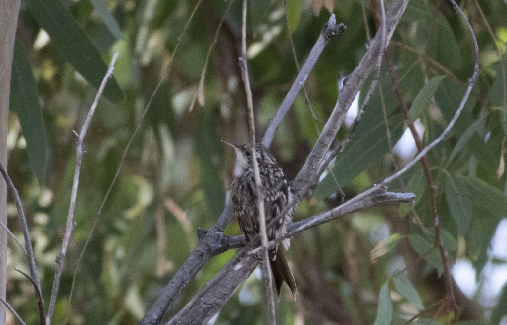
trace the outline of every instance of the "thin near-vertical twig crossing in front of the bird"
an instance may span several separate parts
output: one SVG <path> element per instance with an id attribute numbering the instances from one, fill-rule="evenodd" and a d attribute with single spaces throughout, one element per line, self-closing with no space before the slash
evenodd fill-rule
<path id="1" fill-rule="evenodd" d="M 262 245 L 262 273 L 266 288 L 266 303 L 268 305 L 268 320 L 271 325 L 276 325 L 275 318 L 275 299 L 273 297 L 273 279 L 269 269 L 270 260 L 268 252 L 268 234 L 266 232 L 266 215 L 264 210 L 264 194 L 261 182 L 261 174 L 259 172 L 259 164 L 256 154 L 256 137 L 255 137 L 255 116 L 253 114 L 252 93 L 250 89 L 250 80 L 248 78 L 248 67 L 246 62 L 246 7 L 247 0 L 243 0 L 242 19 L 241 19 L 241 77 L 246 93 L 246 107 L 248 109 L 248 125 L 251 143 L 251 161 L 253 166 L 253 176 L 255 177 L 257 190 L 257 210 L 259 211 L 259 231 L 261 234 Z"/>

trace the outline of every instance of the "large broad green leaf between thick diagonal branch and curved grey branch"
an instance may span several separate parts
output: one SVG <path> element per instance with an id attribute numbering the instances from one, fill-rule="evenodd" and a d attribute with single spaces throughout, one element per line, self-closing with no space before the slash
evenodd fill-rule
<path id="1" fill-rule="evenodd" d="M 341 156 L 338 156 L 333 172 L 341 186 L 348 185 L 355 176 L 389 152 L 386 126 L 382 118 L 382 110 L 370 107 L 363 116 L 361 123 L 354 131 L 350 143 Z M 403 133 L 403 119 L 400 113 L 388 118 L 392 144 Z M 326 176 L 315 189 L 316 198 L 328 197 L 336 192 L 336 184 L 331 175 Z"/>

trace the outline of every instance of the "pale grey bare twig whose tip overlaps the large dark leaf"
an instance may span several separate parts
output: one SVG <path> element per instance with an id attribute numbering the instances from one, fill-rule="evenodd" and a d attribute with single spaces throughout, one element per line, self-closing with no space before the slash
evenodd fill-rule
<path id="1" fill-rule="evenodd" d="M 119 54 L 115 53 L 113 55 L 113 58 L 111 59 L 111 63 L 109 65 L 109 68 L 107 69 L 107 72 L 102 79 L 102 83 L 100 83 L 100 87 L 97 90 L 97 95 L 95 96 L 95 99 L 93 100 L 93 103 L 90 107 L 90 110 L 88 111 L 88 114 L 86 115 L 85 121 L 83 123 L 83 126 L 81 127 L 81 131 L 78 135 L 78 140 L 76 144 L 76 170 L 74 171 L 74 180 L 72 183 L 72 191 L 70 194 L 70 204 L 68 207 L 68 213 L 67 213 L 67 222 L 65 224 L 65 233 L 63 235 L 63 242 L 60 254 L 58 254 L 56 258 L 56 266 L 55 266 L 55 279 L 53 282 L 53 289 L 51 291 L 51 298 L 49 301 L 48 306 L 48 312 L 46 315 L 46 323 L 49 325 L 51 323 L 51 318 L 53 317 L 53 312 L 55 310 L 56 306 L 56 298 L 58 297 L 58 290 L 60 288 L 60 281 L 61 276 L 63 272 L 63 266 L 65 263 L 65 256 L 67 254 L 67 248 L 70 241 L 70 235 L 72 234 L 72 230 L 74 229 L 74 209 L 76 207 L 76 197 L 78 194 L 78 185 L 79 185 L 79 176 L 81 173 L 81 162 L 83 160 L 83 155 L 85 151 L 83 150 L 83 141 L 86 136 L 86 132 L 88 131 L 88 127 L 90 126 L 91 119 L 93 116 L 93 113 L 95 112 L 95 108 L 97 107 L 98 100 L 100 99 L 100 96 L 102 95 L 102 92 L 104 91 L 105 85 L 107 84 L 107 81 L 113 76 L 113 71 L 115 69 L 115 62 L 118 59 Z"/>

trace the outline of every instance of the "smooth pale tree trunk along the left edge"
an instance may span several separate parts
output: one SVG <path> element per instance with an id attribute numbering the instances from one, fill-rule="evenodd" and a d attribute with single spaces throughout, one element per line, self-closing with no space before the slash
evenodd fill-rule
<path id="1" fill-rule="evenodd" d="M 11 93 L 14 38 L 20 0 L 0 1 L 0 162 L 7 169 L 7 117 Z M 7 185 L 0 179 L 0 220 L 7 225 Z M 7 232 L 0 227 L 0 297 L 7 291 Z M 0 303 L 0 325 L 5 324 L 6 307 Z"/>

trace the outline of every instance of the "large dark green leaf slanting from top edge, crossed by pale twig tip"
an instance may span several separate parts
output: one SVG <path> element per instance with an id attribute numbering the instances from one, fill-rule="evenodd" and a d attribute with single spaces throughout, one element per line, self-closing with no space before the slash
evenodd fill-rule
<path id="1" fill-rule="evenodd" d="M 98 89 L 107 65 L 68 10 L 59 0 L 28 0 L 28 5 L 33 18 L 49 34 L 58 51 Z M 123 94 L 115 78 L 105 86 L 104 96 L 115 103 L 122 101 Z"/>

